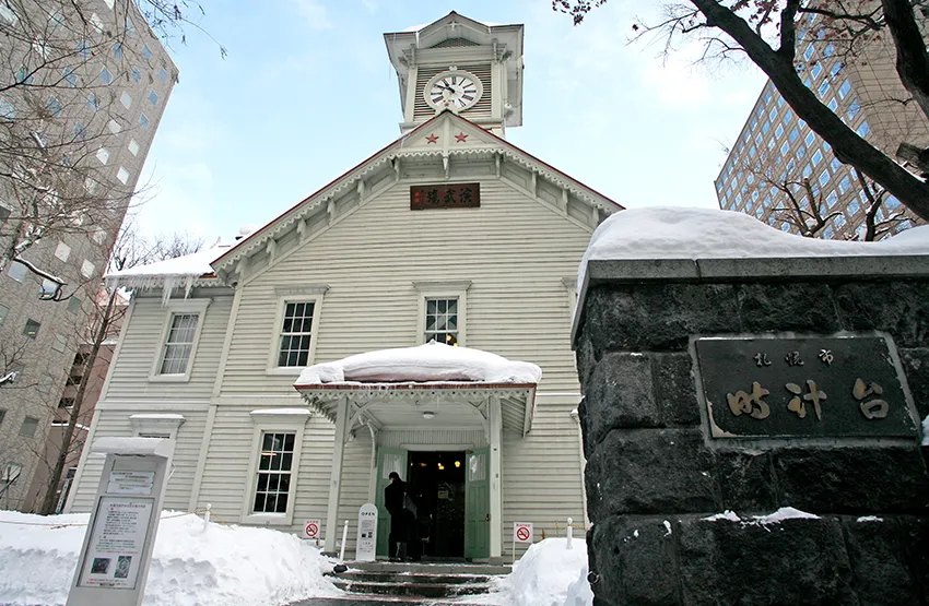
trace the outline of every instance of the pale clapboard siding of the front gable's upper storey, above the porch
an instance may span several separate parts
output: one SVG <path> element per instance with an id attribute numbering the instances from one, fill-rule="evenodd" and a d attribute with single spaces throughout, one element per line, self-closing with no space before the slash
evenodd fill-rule
<path id="1" fill-rule="evenodd" d="M 590 233 L 498 179 L 481 187 L 480 209 L 413 212 L 409 187 L 393 186 L 251 278 L 224 393 L 291 389 L 293 377 L 266 375 L 275 288 L 329 286 L 313 360 L 328 361 L 418 344 L 413 282 L 465 280 L 466 345 L 538 364 L 540 389 L 577 391 L 562 280 L 576 274 Z"/>

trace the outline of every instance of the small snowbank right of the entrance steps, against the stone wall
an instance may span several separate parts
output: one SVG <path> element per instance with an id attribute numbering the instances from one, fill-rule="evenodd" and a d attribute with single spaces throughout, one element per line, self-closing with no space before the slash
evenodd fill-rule
<path id="1" fill-rule="evenodd" d="M 498 585 L 507 606 L 590 606 L 593 592 L 587 582 L 587 544 L 546 538 L 529 547 Z"/>

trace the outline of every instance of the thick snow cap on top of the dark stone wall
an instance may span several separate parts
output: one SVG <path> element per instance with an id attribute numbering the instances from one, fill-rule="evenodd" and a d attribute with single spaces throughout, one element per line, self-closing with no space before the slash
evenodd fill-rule
<path id="1" fill-rule="evenodd" d="M 929 226 L 878 242 L 822 240 L 787 234 L 744 213 L 716 209 L 627 209 L 590 238 L 578 285 L 590 260 L 861 257 L 929 254 Z"/>

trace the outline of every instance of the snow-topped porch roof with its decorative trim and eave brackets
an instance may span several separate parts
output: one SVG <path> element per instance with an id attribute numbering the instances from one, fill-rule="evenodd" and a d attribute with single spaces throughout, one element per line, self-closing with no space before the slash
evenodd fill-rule
<path id="1" fill-rule="evenodd" d="M 542 370 L 534 364 L 432 342 L 309 366 L 294 388 L 330 420 L 342 395 L 363 405 L 405 397 L 483 399 L 495 392 L 504 404 L 504 429 L 525 435 L 541 378 Z"/>

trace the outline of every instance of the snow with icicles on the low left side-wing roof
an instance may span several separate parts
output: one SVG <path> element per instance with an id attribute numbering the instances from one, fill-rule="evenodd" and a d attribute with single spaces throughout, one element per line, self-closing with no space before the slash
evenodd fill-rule
<path id="1" fill-rule="evenodd" d="M 104 277 L 108 288 L 164 286 L 165 300 L 170 297 L 172 290 L 184 285 L 184 296 L 187 297 L 193 287 L 193 282 L 198 277 L 213 273 L 210 263 L 219 259 L 230 248 L 232 248 L 231 245 L 216 245 L 192 254 L 108 273 Z"/>

